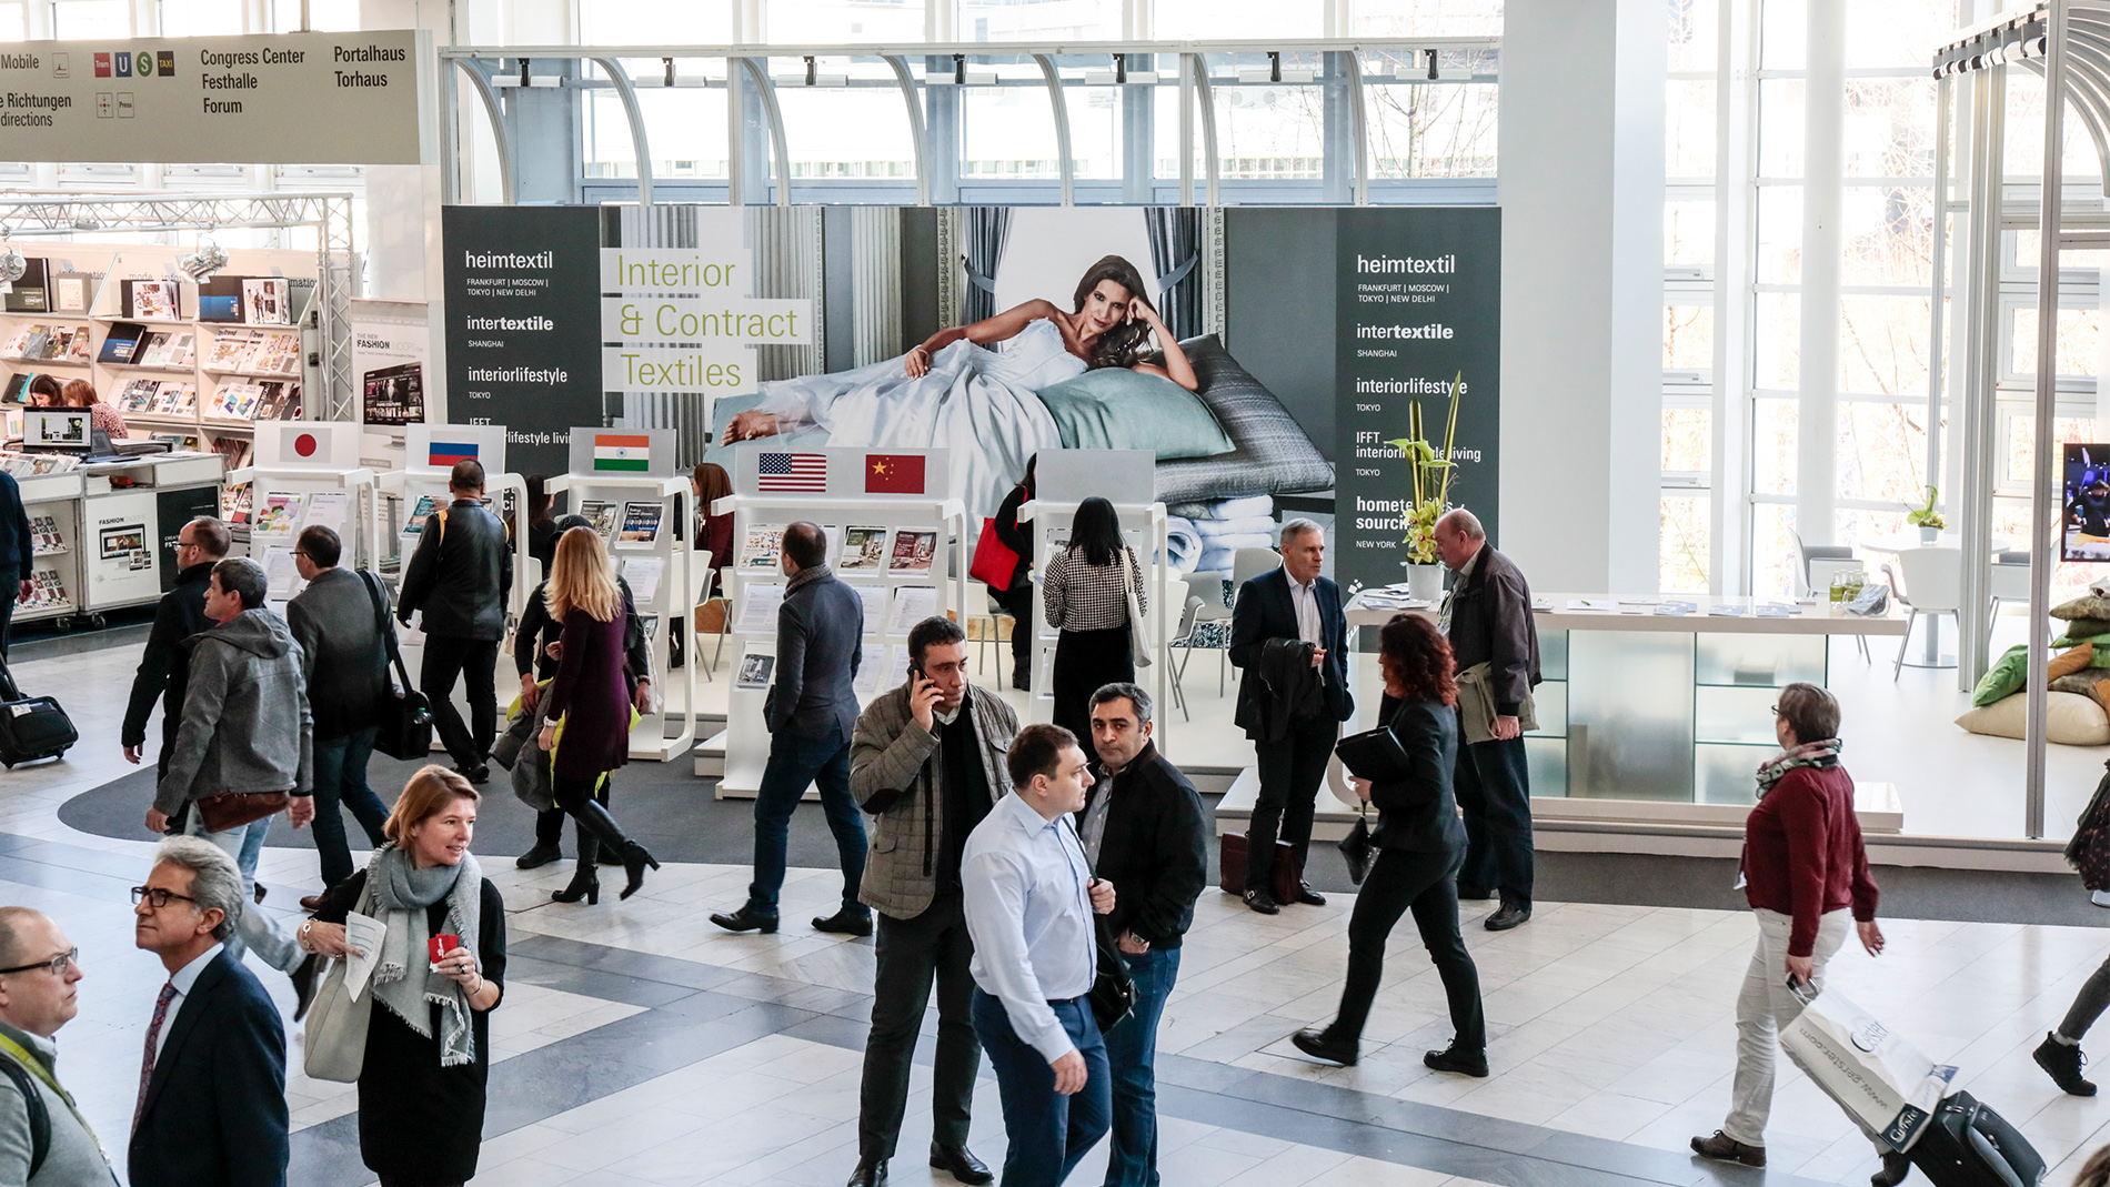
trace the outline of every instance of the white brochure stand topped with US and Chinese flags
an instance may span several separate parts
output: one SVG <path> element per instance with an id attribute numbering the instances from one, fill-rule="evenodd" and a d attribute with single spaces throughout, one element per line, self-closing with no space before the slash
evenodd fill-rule
<path id="1" fill-rule="evenodd" d="M 781 460 L 772 468 L 791 472 L 762 474 L 764 460 Z M 922 466 L 922 479 L 909 481 L 916 466 Z M 732 495 L 711 506 L 713 514 L 732 512 L 734 548 L 728 590 L 728 614 L 734 616 L 732 687 L 726 694 L 726 732 L 715 740 L 726 757 L 717 780 L 720 799 L 751 799 L 760 793 L 770 759 L 762 704 L 774 681 L 785 525 L 804 519 L 825 527 L 827 563 L 865 599 L 865 641 L 857 673 L 857 698 L 865 704 L 907 679 L 907 641 L 916 622 L 935 614 L 952 614 L 954 620 L 962 616 L 966 508 L 947 498 L 947 476 L 945 449 L 738 455 Z M 874 487 L 912 487 L 918 493 L 867 493 Z M 774 540 L 768 536 L 772 531 Z M 844 552 L 850 552 L 848 561 Z M 806 795 L 817 797 L 810 789 Z"/>

